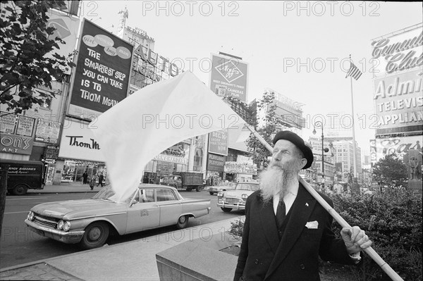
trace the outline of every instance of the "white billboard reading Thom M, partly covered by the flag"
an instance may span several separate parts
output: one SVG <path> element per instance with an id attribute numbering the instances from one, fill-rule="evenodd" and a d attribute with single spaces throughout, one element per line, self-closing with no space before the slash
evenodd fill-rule
<path id="1" fill-rule="evenodd" d="M 59 158 L 104 162 L 102 144 L 87 124 L 75 120 L 64 123 Z"/>

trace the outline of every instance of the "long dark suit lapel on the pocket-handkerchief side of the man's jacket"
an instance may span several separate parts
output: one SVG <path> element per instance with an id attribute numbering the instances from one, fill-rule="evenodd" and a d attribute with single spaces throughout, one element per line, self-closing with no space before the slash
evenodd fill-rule
<path id="1" fill-rule="evenodd" d="M 271 273 L 278 268 L 279 264 L 281 264 L 288 255 L 290 249 L 293 248 L 302 230 L 304 230 L 305 224 L 312 214 L 315 204 L 316 199 L 314 199 L 305 190 L 305 187 L 300 184 L 297 198 L 290 209 L 291 213 L 288 224 L 286 225 L 285 232 L 283 233 L 281 243 L 278 245 L 278 250 L 276 251 L 274 259 L 269 266 L 269 270 L 267 270 L 266 277 L 271 275 Z"/>

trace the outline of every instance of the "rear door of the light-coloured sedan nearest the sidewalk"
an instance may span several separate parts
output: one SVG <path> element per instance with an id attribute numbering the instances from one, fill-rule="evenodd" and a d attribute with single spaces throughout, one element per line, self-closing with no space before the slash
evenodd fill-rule
<path id="1" fill-rule="evenodd" d="M 160 226 L 175 225 L 182 212 L 176 194 L 170 188 L 156 189 L 157 204 L 160 208 Z"/>

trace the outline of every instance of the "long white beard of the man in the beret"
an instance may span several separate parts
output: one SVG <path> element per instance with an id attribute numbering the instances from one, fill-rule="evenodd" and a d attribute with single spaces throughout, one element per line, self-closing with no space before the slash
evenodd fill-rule
<path id="1" fill-rule="evenodd" d="M 286 192 L 286 173 L 280 166 L 269 166 L 260 175 L 260 194 L 264 204 L 268 203 L 276 194 L 283 199 Z"/>

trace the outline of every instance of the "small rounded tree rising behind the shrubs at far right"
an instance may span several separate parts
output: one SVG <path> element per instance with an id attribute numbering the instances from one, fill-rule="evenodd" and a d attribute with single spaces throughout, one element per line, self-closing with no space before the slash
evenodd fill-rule
<path id="1" fill-rule="evenodd" d="M 388 187 L 404 187 L 407 183 L 407 166 L 396 154 L 386 154 L 374 164 L 372 180 Z"/>

